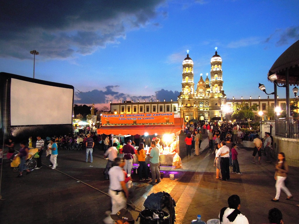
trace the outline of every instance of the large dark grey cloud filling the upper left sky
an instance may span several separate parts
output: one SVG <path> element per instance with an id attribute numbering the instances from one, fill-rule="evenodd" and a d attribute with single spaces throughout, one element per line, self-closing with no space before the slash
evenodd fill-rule
<path id="1" fill-rule="evenodd" d="M 45 58 L 91 54 L 149 24 L 164 1 L 3 1 L 0 57 L 27 59 L 28 49 Z"/>

